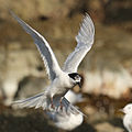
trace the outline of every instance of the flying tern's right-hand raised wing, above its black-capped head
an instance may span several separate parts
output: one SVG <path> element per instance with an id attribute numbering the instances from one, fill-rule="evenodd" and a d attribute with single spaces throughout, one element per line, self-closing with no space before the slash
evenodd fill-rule
<path id="1" fill-rule="evenodd" d="M 95 26 L 94 22 L 88 14 L 82 20 L 78 35 L 76 36 L 77 46 L 75 51 L 67 57 L 63 70 L 67 73 L 76 73 L 77 68 L 90 51 L 95 38 Z"/>

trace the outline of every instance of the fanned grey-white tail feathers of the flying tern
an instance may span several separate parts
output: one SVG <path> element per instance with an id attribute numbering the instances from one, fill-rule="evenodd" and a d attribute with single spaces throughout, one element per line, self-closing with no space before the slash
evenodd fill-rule
<path id="1" fill-rule="evenodd" d="M 76 113 L 80 113 L 84 116 L 84 113 L 78 110 L 78 108 L 74 107 L 65 97 L 62 98 L 62 105 L 63 105 L 63 109 L 61 107 L 61 96 L 57 96 L 53 99 L 53 105 L 54 105 L 54 109 L 51 107 L 51 99 L 44 94 L 41 92 L 38 95 L 35 95 L 33 97 L 26 98 L 26 99 L 22 99 L 22 100 L 18 100 L 14 101 L 12 105 L 16 105 L 20 108 L 43 108 L 43 110 L 48 110 L 48 111 L 54 111 L 54 112 L 59 112 L 61 110 L 64 110 L 66 112 L 72 112 L 74 114 Z"/>

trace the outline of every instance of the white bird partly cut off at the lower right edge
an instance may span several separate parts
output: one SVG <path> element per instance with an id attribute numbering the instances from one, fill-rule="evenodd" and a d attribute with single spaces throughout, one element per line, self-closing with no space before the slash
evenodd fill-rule
<path id="1" fill-rule="evenodd" d="M 124 113 L 123 125 L 129 132 L 132 132 L 132 103 L 127 105 L 120 111 Z"/>

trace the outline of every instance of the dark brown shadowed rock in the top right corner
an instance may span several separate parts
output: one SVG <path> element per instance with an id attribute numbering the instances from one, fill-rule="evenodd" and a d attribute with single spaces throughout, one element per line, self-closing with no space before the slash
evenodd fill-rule
<path id="1" fill-rule="evenodd" d="M 82 4 L 84 2 L 84 4 Z M 118 23 L 132 20 L 129 12 L 132 12 L 131 0 L 84 0 L 80 9 L 88 11 L 92 18 L 101 23 Z"/>

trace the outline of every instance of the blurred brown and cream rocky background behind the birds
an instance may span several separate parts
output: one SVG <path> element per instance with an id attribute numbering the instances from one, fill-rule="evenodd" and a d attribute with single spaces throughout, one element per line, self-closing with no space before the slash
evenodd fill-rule
<path id="1" fill-rule="evenodd" d="M 96 38 L 79 67 L 86 100 L 78 105 L 88 119 L 74 131 L 124 132 L 116 111 L 132 100 L 132 0 L 0 0 L 0 132 L 57 132 L 43 111 L 10 108 L 12 100 L 42 91 L 48 79 L 32 38 L 9 10 L 48 40 L 62 66 L 82 15 L 90 14 Z"/>

